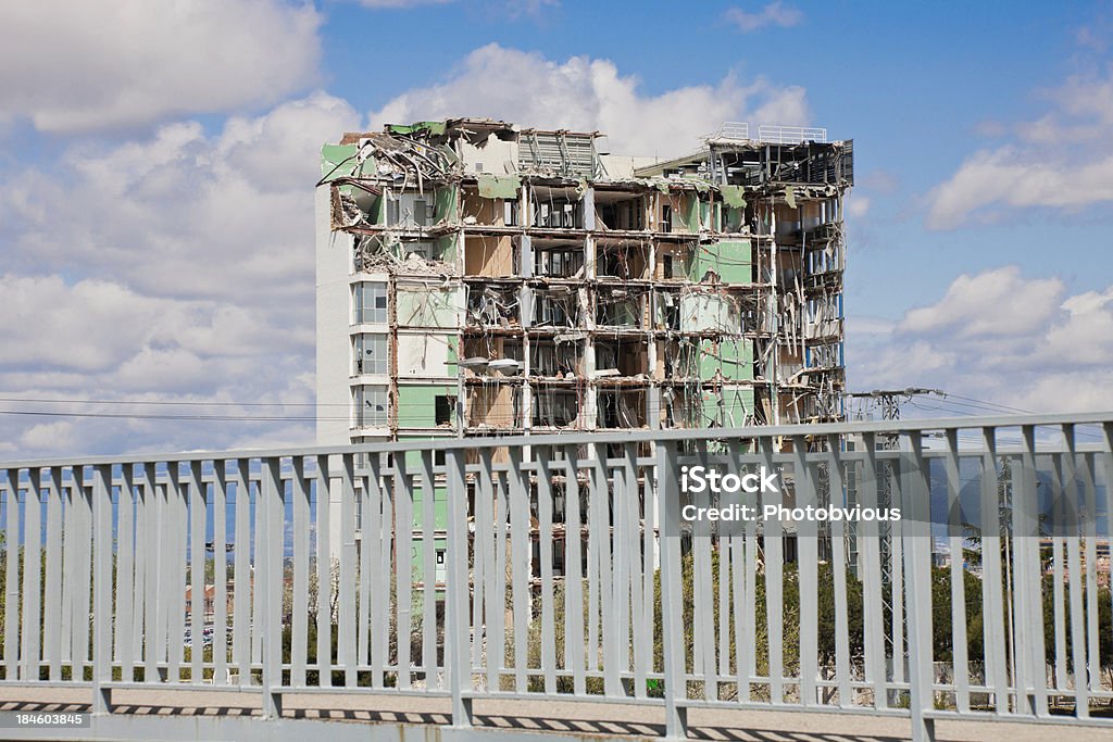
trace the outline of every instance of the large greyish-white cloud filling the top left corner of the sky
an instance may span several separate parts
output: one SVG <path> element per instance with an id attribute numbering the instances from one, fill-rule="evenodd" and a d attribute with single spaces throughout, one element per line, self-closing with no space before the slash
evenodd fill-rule
<path id="1" fill-rule="evenodd" d="M 283 0 L 0 3 L 0 120 L 73 132 L 269 105 L 315 81 L 321 20 Z"/>

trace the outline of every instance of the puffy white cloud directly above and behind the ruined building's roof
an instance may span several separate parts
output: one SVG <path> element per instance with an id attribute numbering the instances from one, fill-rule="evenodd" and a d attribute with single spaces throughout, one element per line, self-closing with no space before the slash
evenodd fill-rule
<path id="1" fill-rule="evenodd" d="M 683 111 L 683 116 L 678 116 Z M 599 130 L 622 155 L 681 155 L 723 121 L 806 123 L 805 90 L 728 75 L 717 85 L 644 95 L 640 80 L 589 57 L 552 61 L 492 43 L 471 52 L 449 79 L 410 90 L 371 113 L 373 123 L 490 116 L 523 126 Z"/>

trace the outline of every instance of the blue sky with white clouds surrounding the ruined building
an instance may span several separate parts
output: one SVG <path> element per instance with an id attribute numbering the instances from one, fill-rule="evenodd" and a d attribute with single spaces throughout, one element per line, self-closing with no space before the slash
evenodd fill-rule
<path id="1" fill-rule="evenodd" d="M 311 441 L 315 152 L 457 115 L 854 138 L 850 386 L 1109 408 L 1111 41 L 1110 2 L 4 3 L 0 410 L 89 416 L 0 456 Z"/>

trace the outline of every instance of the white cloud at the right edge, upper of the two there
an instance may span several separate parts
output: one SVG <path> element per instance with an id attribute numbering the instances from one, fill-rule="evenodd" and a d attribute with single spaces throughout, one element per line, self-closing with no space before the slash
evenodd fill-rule
<path id="1" fill-rule="evenodd" d="M 932 190 L 929 228 L 1113 202 L 1113 69 L 1070 78 L 1046 97 L 1053 110 L 1013 127 L 1015 141 L 974 152 Z"/>

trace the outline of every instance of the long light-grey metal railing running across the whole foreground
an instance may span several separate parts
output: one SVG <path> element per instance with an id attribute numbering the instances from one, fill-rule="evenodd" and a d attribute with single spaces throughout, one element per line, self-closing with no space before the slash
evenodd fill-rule
<path id="1" fill-rule="evenodd" d="M 0 686 L 100 714 L 235 686 L 264 719 L 425 694 L 454 726 L 612 701 L 670 736 L 691 708 L 1109 723 L 1111 441 L 1075 414 L 13 462 Z M 700 499 L 697 465 L 781 486 Z M 732 502 L 787 511 L 683 516 Z"/>

